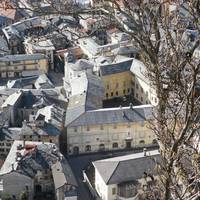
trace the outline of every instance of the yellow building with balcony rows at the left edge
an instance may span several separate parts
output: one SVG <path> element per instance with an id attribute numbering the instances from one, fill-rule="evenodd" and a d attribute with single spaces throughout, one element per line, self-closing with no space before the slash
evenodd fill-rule
<path id="1" fill-rule="evenodd" d="M 20 54 L 0 57 L 0 77 L 21 77 L 48 72 L 48 60 L 43 54 Z"/>

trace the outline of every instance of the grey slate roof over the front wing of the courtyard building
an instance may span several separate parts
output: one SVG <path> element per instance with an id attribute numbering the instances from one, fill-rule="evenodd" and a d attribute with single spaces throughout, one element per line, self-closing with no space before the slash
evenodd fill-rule
<path id="1" fill-rule="evenodd" d="M 153 118 L 152 111 L 153 107 L 151 105 L 92 110 L 84 112 L 81 116 L 74 119 L 69 126 L 146 121 Z"/>

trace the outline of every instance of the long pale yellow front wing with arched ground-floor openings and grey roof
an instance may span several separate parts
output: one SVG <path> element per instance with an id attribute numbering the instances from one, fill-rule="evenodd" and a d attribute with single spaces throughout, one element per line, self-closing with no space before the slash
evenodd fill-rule
<path id="1" fill-rule="evenodd" d="M 156 136 L 148 127 L 152 109 L 151 105 L 98 109 L 86 111 L 73 121 L 68 119 L 65 123 L 68 154 L 156 144 Z"/>

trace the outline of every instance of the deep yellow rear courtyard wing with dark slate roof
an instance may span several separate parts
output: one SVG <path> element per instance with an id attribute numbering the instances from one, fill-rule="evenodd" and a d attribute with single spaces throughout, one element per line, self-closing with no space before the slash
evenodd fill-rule
<path id="1" fill-rule="evenodd" d="M 132 73 L 130 72 L 132 61 L 133 59 L 127 58 L 117 63 L 100 66 L 105 99 L 123 97 L 132 93 Z"/>

